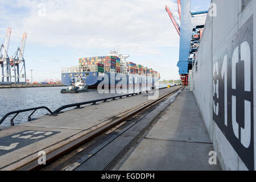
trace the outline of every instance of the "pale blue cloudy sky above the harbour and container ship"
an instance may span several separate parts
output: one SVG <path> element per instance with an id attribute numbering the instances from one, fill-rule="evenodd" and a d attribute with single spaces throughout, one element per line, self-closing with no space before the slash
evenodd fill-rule
<path id="1" fill-rule="evenodd" d="M 191 0 L 191 11 L 208 10 L 209 3 Z M 177 80 L 179 35 L 165 5 L 179 22 L 176 0 L 0 0 L 0 43 L 11 27 L 11 57 L 28 33 L 24 59 L 34 81 L 60 79 L 62 67 L 110 50 L 158 71 L 161 80 Z"/>

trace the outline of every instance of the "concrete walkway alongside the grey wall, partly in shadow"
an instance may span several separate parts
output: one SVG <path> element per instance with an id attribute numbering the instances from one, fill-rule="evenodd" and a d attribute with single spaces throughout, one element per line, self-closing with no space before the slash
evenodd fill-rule
<path id="1" fill-rule="evenodd" d="M 221 170 L 209 164 L 210 151 L 195 98 L 185 88 L 119 170 Z"/>

